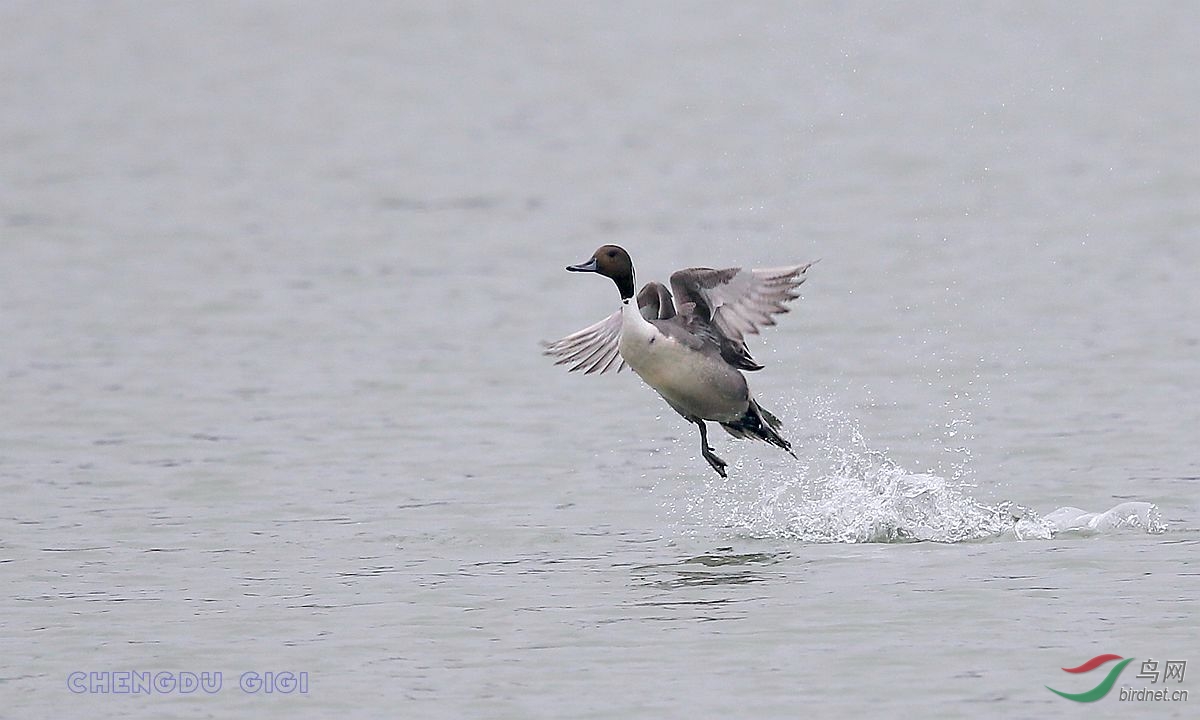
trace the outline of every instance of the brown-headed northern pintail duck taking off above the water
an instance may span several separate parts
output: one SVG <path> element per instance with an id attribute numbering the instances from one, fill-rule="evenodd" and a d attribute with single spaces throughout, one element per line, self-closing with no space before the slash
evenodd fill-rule
<path id="1" fill-rule="evenodd" d="M 704 421 L 719 422 L 736 438 L 782 448 L 781 424 L 750 395 L 743 370 L 761 370 L 744 336 L 774 325 L 772 316 L 799 298 L 796 288 L 812 265 L 766 270 L 688 268 L 671 276 L 671 290 L 647 283 L 634 305 L 634 262 L 617 245 L 605 245 L 572 272 L 611 277 L 620 292 L 620 310 L 594 325 L 546 343 L 556 365 L 574 364 L 586 373 L 622 371 L 628 365 L 677 413 L 700 427 L 701 452 L 722 478 L 727 463 L 708 444 Z"/>

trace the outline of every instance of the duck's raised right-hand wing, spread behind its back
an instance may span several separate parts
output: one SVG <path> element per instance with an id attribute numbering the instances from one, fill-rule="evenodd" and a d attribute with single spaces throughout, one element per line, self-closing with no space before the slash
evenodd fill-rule
<path id="1" fill-rule="evenodd" d="M 773 316 L 787 312 L 784 305 L 799 298 L 796 288 L 806 280 L 806 265 L 743 270 L 689 268 L 671 276 L 676 305 L 695 304 L 695 314 L 710 322 L 722 335 L 742 343 L 746 334 L 774 325 Z"/>

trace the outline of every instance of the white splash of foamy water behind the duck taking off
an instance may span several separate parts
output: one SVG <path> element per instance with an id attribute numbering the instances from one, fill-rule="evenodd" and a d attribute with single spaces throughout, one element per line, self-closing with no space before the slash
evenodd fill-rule
<path id="1" fill-rule="evenodd" d="M 947 434 L 955 434 L 956 424 Z M 910 472 L 871 449 L 858 422 L 820 397 L 814 398 L 805 425 L 826 430 L 805 442 L 798 467 L 739 461 L 731 464 L 728 479 L 707 473 L 698 485 L 689 474 L 684 497 L 672 497 L 665 505 L 686 524 L 698 521 L 752 538 L 806 542 L 1032 540 L 1061 533 L 1166 529 L 1152 503 L 1121 503 L 1102 512 L 1066 506 L 1038 515 L 1013 502 L 979 502 L 970 494 L 974 486 L 968 482 L 965 449 L 950 449 L 959 460 L 949 479 Z"/>

